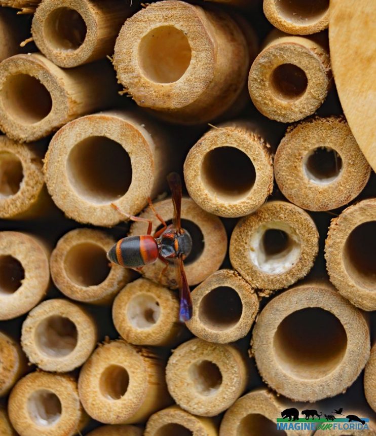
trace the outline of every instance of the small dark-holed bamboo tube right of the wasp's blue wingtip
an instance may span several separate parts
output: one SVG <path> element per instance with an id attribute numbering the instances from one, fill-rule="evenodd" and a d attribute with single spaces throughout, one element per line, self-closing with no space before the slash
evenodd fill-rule
<path id="1" fill-rule="evenodd" d="M 193 316 L 186 322 L 205 341 L 226 344 L 250 331 L 258 311 L 254 289 L 232 270 L 219 270 L 192 292 Z"/>

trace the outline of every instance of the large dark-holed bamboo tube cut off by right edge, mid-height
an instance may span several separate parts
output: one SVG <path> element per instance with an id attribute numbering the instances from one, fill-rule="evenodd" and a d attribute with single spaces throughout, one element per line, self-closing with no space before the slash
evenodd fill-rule
<path id="1" fill-rule="evenodd" d="M 339 293 L 363 310 L 376 309 L 376 198 L 346 208 L 331 221 L 326 269 Z"/>

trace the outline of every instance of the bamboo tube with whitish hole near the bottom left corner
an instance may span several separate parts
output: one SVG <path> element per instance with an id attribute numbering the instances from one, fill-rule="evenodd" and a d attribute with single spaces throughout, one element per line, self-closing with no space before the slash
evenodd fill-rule
<path id="1" fill-rule="evenodd" d="M 84 427 L 77 382 L 67 375 L 34 372 L 13 388 L 9 419 L 22 436 L 66 436 Z"/>

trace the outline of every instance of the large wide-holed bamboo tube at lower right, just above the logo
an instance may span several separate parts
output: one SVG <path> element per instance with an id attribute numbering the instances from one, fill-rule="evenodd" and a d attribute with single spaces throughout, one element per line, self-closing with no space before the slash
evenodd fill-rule
<path id="1" fill-rule="evenodd" d="M 278 393 L 314 402 L 344 392 L 369 356 L 362 313 L 329 283 L 295 286 L 258 316 L 252 336 L 258 371 Z"/>

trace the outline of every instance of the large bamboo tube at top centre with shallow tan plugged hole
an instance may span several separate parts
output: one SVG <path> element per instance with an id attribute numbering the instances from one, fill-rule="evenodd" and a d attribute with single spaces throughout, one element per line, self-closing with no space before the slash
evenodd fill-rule
<path id="1" fill-rule="evenodd" d="M 197 124 L 237 100 L 249 53 L 228 14 L 172 0 L 151 4 L 125 22 L 114 67 L 138 105 L 171 121 Z"/>

